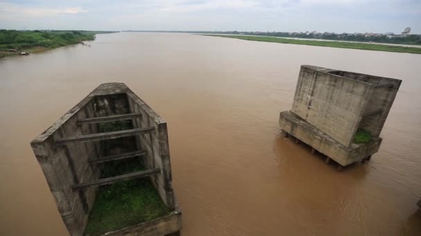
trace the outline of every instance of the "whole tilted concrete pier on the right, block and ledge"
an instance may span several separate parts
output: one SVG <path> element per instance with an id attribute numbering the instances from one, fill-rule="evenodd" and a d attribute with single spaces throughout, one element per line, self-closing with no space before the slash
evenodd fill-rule
<path id="1" fill-rule="evenodd" d="M 355 72 L 301 66 L 290 112 L 280 127 L 342 166 L 376 153 L 379 137 L 401 80 Z M 353 144 L 358 128 L 373 135 Z"/>

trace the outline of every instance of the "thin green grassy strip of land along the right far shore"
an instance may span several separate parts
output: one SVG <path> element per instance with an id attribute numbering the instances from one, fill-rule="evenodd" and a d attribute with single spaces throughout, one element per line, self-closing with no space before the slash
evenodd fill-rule
<path id="1" fill-rule="evenodd" d="M 271 43 L 290 43 L 301 44 L 309 46 L 322 46 L 331 48 L 350 48 L 361 50 L 376 50 L 385 52 L 409 52 L 421 54 L 421 48 L 404 47 L 404 46 L 390 46 L 375 43 L 351 43 L 346 41 L 316 41 L 316 40 L 301 40 L 301 39 L 284 39 L 277 37 L 260 37 L 260 36 L 247 36 L 247 35 L 204 35 L 213 37 L 224 37 L 233 39 L 243 39 L 250 41 L 264 41 Z"/>

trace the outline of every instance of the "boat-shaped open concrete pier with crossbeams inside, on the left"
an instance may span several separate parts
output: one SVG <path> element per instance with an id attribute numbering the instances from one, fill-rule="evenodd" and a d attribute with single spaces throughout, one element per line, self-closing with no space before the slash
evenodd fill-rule
<path id="1" fill-rule="evenodd" d="M 172 189 L 167 124 L 124 83 L 98 86 L 31 146 L 71 235 L 179 235 L 181 210 Z M 115 166 L 118 171 L 121 166 L 134 171 L 104 174 Z M 87 226 L 98 220 L 90 216 L 96 199 L 111 190 L 109 186 L 141 179 L 140 186 L 150 184 L 157 196 L 148 192 L 145 206 L 152 200 L 162 204 L 159 214 L 134 217 L 117 228 L 104 223 L 104 228 L 87 232 Z M 152 214 L 150 210 L 135 213 L 143 216 Z"/>

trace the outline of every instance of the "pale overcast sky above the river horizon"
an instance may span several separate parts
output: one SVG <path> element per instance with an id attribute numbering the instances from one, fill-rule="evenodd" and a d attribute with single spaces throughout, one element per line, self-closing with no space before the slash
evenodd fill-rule
<path id="1" fill-rule="evenodd" d="M 0 0 L 0 28 L 421 34 L 421 0 Z"/>

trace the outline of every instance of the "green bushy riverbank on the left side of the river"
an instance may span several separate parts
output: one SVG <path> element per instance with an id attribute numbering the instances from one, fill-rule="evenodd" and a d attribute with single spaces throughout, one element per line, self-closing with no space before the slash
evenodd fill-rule
<path id="1" fill-rule="evenodd" d="M 20 52 L 36 53 L 92 41 L 104 31 L 18 31 L 0 30 L 0 58 L 21 55 Z"/>

